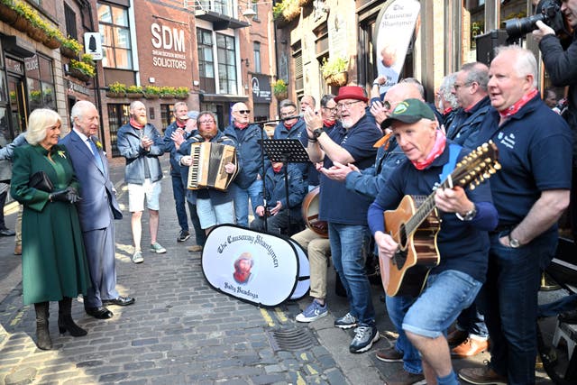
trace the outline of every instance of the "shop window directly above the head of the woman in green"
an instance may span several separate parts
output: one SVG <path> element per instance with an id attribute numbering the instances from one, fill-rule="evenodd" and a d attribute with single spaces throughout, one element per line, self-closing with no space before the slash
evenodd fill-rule
<path id="1" fill-rule="evenodd" d="M 52 61 L 41 55 L 35 55 L 24 61 L 24 67 L 30 110 L 35 108 L 56 110 Z"/>

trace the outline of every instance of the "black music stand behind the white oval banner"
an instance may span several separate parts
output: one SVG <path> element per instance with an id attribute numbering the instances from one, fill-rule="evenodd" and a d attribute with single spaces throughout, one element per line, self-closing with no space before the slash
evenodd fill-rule
<path id="1" fill-rule="evenodd" d="M 262 148 L 267 154 L 269 160 L 281 161 L 285 165 L 285 194 L 287 196 L 287 214 L 289 215 L 289 235 L 292 227 L 290 220 L 290 203 L 289 203 L 289 164 L 290 163 L 307 163 L 308 153 L 303 144 L 298 139 L 267 139 L 261 141 Z M 266 208 L 266 207 L 265 207 Z M 264 215 L 266 224 L 267 215 Z M 266 225 L 265 225 L 266 228 Z"/>

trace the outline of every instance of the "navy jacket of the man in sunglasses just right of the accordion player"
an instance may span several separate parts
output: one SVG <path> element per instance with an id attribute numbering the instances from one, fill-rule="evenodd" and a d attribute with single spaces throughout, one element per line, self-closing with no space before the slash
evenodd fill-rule
<path id="1" fill-rule="evenodd" d="M 251 124 L 244 129 L 243 140 L 239 141 L 234 124 L 229 124 L 224 128 L 224 134 L 229 138 L 233 138 L 236 142 L 236 156 L 239 160 L 239 173 L 234 179 L 234 183 L 239 188 L 249 188 L 257 178 L 261 175 L 261 144 L 258 141 L 266 138 L 267 135 L 257 124 Z M 262 135 L 261 135 L 262 134 Z M 268 160 L 265 157 L 265 169 L 268 165 Z"/>

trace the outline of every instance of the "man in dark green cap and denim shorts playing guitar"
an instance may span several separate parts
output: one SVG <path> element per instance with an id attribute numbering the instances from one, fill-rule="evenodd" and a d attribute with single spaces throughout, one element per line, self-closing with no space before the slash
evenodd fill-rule
<path id="1" fill-rule="evenodd" d="M 444 133 L 437 130 L 435 115 L 418 99 L 399 103 L 383 125 L 390 126 L 410 160 L 393 170 L 389 182 L 369 208 L 369 226 L 379 247 L 379 257 L 388 260 L 398 253 L 398 229 L 385 230 L 384 211 L 395 209 L 406 195 L 431 194 L 454 169 L 456 161 L 469 151 L 446 141 Z M 489 252 L 487 231 L 497 225 L 497 210 L 487 182 L 467 191 L 459 186 L 444 186 L 445 183 L 436 188 L 434 195 L 441 230 L 429 237 L 433 247 L 438 246 L 440 263 L 430 271 L 426 289 L 404 319 L 393 322 L 402 325 L 421 353 L 428 383 L 436 380 L 438 384 L 457 384 L 444 333 L 481 289 Z M 408 247 L 421 250 L 420 244 Z"/>

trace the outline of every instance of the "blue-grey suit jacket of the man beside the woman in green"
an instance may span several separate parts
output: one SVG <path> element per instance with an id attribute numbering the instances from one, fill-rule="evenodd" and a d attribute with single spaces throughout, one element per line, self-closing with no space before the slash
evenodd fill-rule
<path id="1" fill-rule="evenodd" d="M 114 196 L 113 184 L 108 175 L 108 160 L 101 149 L 98 149 L 104 164 L 104 172 L 98 169 L 96 159 L 87 144 L 82 142 L 78 133 L 71 131 L 60 144 L 66 146 L 70 160 L 80 182 L 80 197 L 77 204 L 82 231 L 102 229 L 110 225 L 112 210 L 114 219 L 122 219 L 123 214 Z"/>

